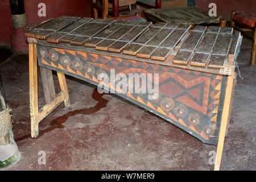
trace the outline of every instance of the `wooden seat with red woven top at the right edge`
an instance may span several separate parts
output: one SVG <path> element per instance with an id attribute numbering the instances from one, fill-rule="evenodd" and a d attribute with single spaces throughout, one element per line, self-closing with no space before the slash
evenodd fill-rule
<path id="1" fill-rule="evenodd" d="M 237 27 L 235 26 L 235 23 L 245 28 L 240 28 L 240 26 Z M 255 60 L 255 49 L 256 49 L 256 13 L 238 13 L 237 11 L 232 11 L 230 26 L 242 32 L 253 31 L 253 46 L 251 47 L 251 58 L 250 58 L 250 65 L 253 66 L 254 60 Z"/>

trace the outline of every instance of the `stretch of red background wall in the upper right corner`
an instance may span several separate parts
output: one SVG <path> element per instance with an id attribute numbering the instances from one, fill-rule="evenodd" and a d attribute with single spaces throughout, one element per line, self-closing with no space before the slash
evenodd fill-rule
<path id="1" fill-rule="evenodd" d="M 216 3 L 217 15 L 221 15 L 222 18 L 230 21 L 231 12 L 244 11 L 244 12 L 256 12 L 255 0 L 196 0 L 196 6 L 205 10 L 209 10 L 209 3 Z"/>

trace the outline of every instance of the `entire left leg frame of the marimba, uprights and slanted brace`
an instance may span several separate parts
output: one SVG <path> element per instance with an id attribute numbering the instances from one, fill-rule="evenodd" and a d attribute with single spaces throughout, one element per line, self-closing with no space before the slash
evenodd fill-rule
<path id="1" fill-rule="evenodd" d="M 36 55 L 36 44 L 28 41 L 29 53 L 29 76 L 30 76 L 30 115 L 31 115 L 31 137 L 36 138 L 39 134 L 39 122 L 42 121 L 51 111 L 63 101 L 66 107 L 70 105 L 68 88 L 64 73 L 57 72 L 61 92 L 55 96 L 52 71 L 47 68 L 40 68 L 44 88 L 46 105 L 38 109 L 38 63 Z"/>

